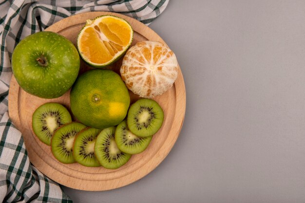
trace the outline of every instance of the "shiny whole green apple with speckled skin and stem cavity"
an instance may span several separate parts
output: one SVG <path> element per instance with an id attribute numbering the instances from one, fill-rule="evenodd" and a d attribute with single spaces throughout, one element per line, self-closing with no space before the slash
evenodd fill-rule
<path id="1" fill-rule="evenodd" d="M 57 98 L 76 80 L 80 66 L 71 41 L 53 32 L 38 32 L 22 39 L 12 55 L 12 70 L 19 86 L 42 98 Z"/>

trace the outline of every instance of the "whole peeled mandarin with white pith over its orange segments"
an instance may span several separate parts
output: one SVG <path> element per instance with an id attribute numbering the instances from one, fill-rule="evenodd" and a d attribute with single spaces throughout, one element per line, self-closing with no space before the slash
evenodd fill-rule
<path id="1" fill-rule="evenodd" d="M 172 87 L 178 75 L 178 62 L 163 43 L 142 41 L 126 52 L 120 73 L 129 90 L 152 98 Z"/>

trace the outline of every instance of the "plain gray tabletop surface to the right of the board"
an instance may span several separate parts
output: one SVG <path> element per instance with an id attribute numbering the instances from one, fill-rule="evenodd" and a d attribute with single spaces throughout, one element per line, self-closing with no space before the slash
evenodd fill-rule
<path id="1" fill-rule="evenodd" d="M 143 179 L 75 203 L 305 202 L 305 1 L 171 0 L 150 26 L 187 89 L 180 136 Z"/>

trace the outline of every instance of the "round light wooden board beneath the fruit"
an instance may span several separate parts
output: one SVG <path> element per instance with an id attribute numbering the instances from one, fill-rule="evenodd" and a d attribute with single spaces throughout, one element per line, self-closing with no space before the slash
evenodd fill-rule
<path id="1" fill-rule="evenodd" d="M 133 43 L 152 40 L 165 43 L 152 29 L 143 23 L 116 13 L 90 12 L 65 18 L 50 26 L 46 31 L 59 33 L 67 37 L 76 45 L 76 37 L 84 26 L 86 19 L 111 14 L 125 18 L 133 27 Z M 110 68 L 119 72 L 122 59 Z M 80 74 L 91 69 L 83 62 Z M 150 173 L 158 166 L 172 149 L 178 138 L 185 115 L 186 93 L 183 76 L 179 68 L 178 78 L 170 90 L 154 97 L 164 110 L 164 123 L 162 128 L 153 136 L 149 147 L 140 154 L 135 154 L 127 164 L 118 169 L 103 167 L 86 167 L 75 164 L 62 164 L 51 153 L 50 146 L 40 142 L 32 130 L 32 114 L 46 102 L 58 102 L 70 110 L 69 92 L 56 99 L 42 99 L 24 92 L 12 77 L 9 90 L 9 115 L 13 123 L 22 132 L 30 161 L 42 173 L 61 185 L 80 190 L 101 191 L 118 188 L 133 183 Z M 131 94 L 133 103 L 139 97 Z M 71 111 L 70 111 L 71 112 Z"/>

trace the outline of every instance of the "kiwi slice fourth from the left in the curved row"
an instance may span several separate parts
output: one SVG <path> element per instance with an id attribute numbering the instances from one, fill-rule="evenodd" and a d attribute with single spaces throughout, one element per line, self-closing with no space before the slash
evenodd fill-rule
<path id="1" fill-rule="evenodd" d="M 105 168 L 115 169 L 126 164 L 131 154 L 122 152 L 114 140 L 115 127 L 103 129 L 96 138 L 95 156 Z"/>

